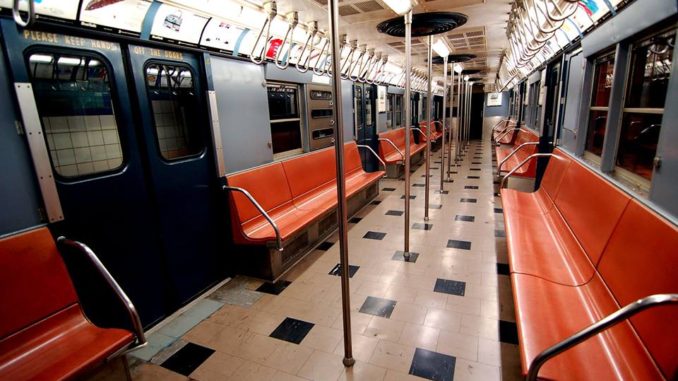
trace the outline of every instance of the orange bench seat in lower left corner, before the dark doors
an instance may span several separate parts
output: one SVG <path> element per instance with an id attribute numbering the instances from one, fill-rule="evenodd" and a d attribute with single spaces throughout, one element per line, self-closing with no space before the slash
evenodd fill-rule
<path id="1" fill-rule="evenodd" d="M 84 315 L 45 227 L 0 239 L 0 379 L 86 376 L 134 342 Z"/>

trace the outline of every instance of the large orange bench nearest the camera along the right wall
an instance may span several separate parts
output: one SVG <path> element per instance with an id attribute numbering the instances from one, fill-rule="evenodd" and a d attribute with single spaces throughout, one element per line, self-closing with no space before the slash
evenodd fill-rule
<path id="1" fill-rule="evenodd" d="M 622 306 L 678 291 L 676 226 L 560 149 L 537 191 L 502 189 L 501 197 L 524 374 L 546 348 Z M 677 322 L 676 306 L 644 311 L 549 360 L 539 375 L 671 379 Z"/>

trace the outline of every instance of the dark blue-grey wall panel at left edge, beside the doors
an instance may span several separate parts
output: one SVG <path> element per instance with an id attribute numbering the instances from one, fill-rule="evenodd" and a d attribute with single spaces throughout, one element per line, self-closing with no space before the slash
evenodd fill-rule
<path id="1" fill-rule="evenodd" d="M 41 222 L 38 184 L 25 137 L 15 124 L 20 117 L 13 107 L 6 68 L 4 47 L 0 47 L 0 236 Z"/>

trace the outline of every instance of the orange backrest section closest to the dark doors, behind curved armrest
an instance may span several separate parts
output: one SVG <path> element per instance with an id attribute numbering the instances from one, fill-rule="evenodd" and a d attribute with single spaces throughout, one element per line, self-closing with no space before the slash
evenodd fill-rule
<path id="1" fill-rule="evenodd" d="M 244 188 L 264 210 L 271 211 L 292 202 L 292 193 L 281 163 L 267 164 L 226 177 L 228 185 Z M 240 192 L 230 192 L 241 224 L 260 216 L 259 211 Z"/>

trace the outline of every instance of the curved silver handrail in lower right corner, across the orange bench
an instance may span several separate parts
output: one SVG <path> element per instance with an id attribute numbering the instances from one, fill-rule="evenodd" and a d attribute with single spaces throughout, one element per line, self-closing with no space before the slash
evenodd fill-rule
<path id="1" fill-rule="evenodd" d="M 598 333 L 611 328 L 622 321 L 626 321 L 633 315 L 645 311 L 649 308 L 661 306 L 665 304 L 678 304 L 678 294 L 655 294 L 638 299 L 635 302 L 629 303 L 623 308 L 607 315 L 603 319 L 591 324 L 582 329 L 567 339 L 546 348 L 539 353 L 530 364 L 527 372 L 527 381 L 536 381 L 539 375 L 539 369 L 551 358 L 565 352 L 566 350 L 582 343 Z"/>

